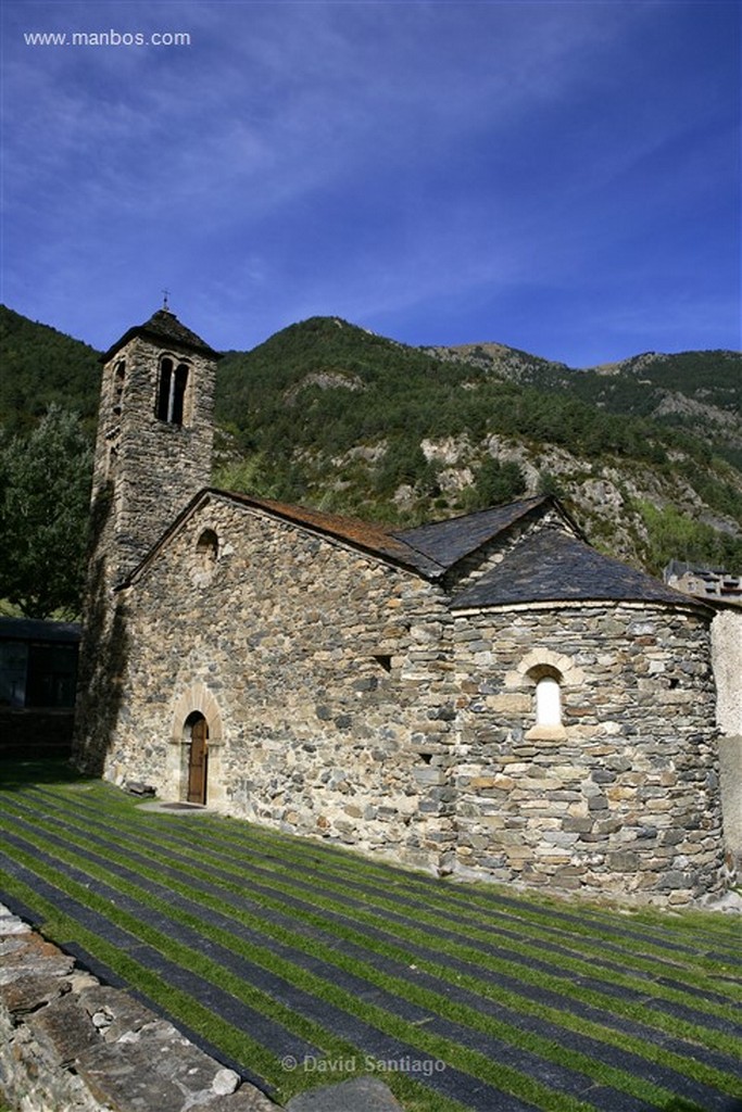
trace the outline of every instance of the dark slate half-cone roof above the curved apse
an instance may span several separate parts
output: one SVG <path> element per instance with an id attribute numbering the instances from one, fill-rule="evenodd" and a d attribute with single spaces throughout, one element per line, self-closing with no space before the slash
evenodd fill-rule
<path id="1" fill-rule="evenodd" d="M 533 533 L 456 595 L 453 609 L 547 602 L 687 603 L 644 572 L 602 556 L 585 542 L 557 529 Z"/>

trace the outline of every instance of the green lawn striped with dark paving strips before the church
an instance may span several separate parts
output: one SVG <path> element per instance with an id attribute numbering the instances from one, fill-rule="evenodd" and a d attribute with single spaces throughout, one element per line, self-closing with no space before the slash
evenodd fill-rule
<path id="1" fill-rule="evenodd" d="M 0 773 L 0 900 L 280 1102 L 742 1108 L 740 919 L 437 881 L 61 764 Z"/>

